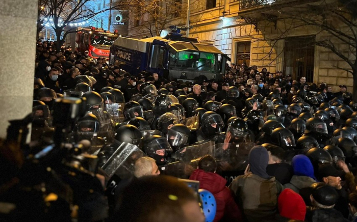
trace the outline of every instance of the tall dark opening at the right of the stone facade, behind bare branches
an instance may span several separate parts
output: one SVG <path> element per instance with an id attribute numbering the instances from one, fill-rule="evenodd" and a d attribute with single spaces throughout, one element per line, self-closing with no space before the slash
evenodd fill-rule
<path id="1" fill-rule="evenodd" d="M 306 77 L 314 81 L 315 36 L 292 37 L 285 39 L 284 73 L 293 79 Z"/>

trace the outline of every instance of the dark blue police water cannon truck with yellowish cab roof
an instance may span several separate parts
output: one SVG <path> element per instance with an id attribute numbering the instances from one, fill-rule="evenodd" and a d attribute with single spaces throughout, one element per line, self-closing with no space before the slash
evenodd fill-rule
<path id="1" fill-rule="evenodd" d="M 231 59 L 215 46 L 200 44 L 196 38 L 184 37 L 174 26 L 166 37 L 132 39 L 118 37 L 110 47 L 110 65 L 132 75 L 140 71 L 158 73 L 166 79 L 194 79 L 205 75 L 220 79 L 226 61 Z"/>

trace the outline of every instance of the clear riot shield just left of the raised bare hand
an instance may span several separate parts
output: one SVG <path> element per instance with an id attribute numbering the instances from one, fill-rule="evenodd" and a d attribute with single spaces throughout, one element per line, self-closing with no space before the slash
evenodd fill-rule
<path id="1" fill-rule="evenodd" d="M 205 155 L 215 156 L 215 145 L 213 141 L 203 144 L 184 147 L 173 154 L 173 158 L 183 162 L 195 162 Z"/>

